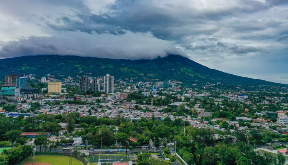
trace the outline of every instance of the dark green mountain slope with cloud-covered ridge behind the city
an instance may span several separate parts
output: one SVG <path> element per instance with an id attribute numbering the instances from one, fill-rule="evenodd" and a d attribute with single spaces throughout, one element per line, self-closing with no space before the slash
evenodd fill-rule
<path id="1" fill-rule="evenodd" d="M 1 79 L 4 79 L 5 75 L 14 71 L 14 73 L 18 74 L 37 74 L 39 77 L 51 74 L 57 78 L 69 75 L 75 77 L 76 75 L 88 74 L 98 77 L 110 74 L 115 76 L 115 79 L 124 79 L 126 77 L 138 77 L 139 79 L 145 77 L 159 79 L 160 81 L 174 79 L 182 81 L 185 85 L 221 82 L 231 85 L 287 86 L 210 69 L 179 55 L 134 61 L 79 56 L 38 55 L 1 59 L 0 66 Z"/>

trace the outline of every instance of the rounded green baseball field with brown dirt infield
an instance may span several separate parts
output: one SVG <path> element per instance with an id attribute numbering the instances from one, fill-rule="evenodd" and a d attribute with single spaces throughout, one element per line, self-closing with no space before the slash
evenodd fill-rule
<path id="1" fill-rule="evenodd" d="M 35 157 L 35 163 L 50 163 L 52 165 L 69 165 L 70 158 L 68 156 L 59 156 L 59 155 L 37 155 Z M 26 163 L 32 163 L 32 157 L 23 162 L 21 165 Z M 77 159 L 72 158 L 73 165 L 83 165 Z"/>

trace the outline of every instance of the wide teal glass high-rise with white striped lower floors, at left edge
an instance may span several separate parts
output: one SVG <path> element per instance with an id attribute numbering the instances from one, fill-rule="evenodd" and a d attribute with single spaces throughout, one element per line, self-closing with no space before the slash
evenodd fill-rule
<path id="1" fill-rule="evenodd" d="M 17 97 L 20 95 L 20 87 L 16 86 L 2 86 L 1 87 L 1 104 L 15 104 Z"/>

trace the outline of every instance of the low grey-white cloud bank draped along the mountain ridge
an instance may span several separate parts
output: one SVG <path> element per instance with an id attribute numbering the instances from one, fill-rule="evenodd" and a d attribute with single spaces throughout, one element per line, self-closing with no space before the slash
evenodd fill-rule
<path id="1" fill-rule="evenodd" d="M 59 32 L 54 36 L 20 38 L 0 51 L 1 57 L 24 55 L 78 55 L 112 59 L 154 59 L 167 54 L 183 54 L 174 41 L 155 38 L 151 32 L 111 34 L 81 31 Z"/>

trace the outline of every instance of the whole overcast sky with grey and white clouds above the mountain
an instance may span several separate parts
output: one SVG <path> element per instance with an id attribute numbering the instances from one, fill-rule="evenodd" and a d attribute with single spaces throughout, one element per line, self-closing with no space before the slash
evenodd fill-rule
<path id="1" fill-rule="evenodd" d="M 0 58 L 153 59 L 288 84 L 287 0 L 0 0 Z"/>

